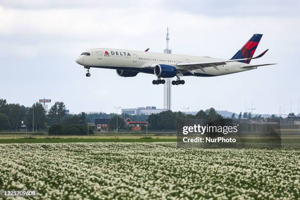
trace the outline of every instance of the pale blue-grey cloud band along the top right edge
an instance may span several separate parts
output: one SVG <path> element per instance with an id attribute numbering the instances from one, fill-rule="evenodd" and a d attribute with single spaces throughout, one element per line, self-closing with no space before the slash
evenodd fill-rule
<path id="1" fill-rule="evenodd" d="M 298 0 L 165 0 L 167 10 L 184 11 L 208 16 L 300 16 Z"/>

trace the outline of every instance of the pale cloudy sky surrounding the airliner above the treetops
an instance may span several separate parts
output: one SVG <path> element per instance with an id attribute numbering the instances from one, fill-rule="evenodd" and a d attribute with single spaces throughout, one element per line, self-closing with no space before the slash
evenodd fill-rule
<path id="1" fill-rule="evenodd" d="M 154 75 L 120 77 L 75 59 L 86 49 L 163 52 L 169 27 L 174 54 L 229 59 L 255 33 L 263 37 L 251 64 L 278 63 L 217 77 L 184 77 L 172 86 L 172 110 L 214 107 L 239 113 L 298 112 L 300 2 L 297 0 L 0 0 L 0 99 L 31 106 L 65 102 L 71 113 L 114 107 L 163 108 Z M 174 78 L 175 79 L 175 78 Z M 120 112 L 120 111 L 119 111 Z"/>

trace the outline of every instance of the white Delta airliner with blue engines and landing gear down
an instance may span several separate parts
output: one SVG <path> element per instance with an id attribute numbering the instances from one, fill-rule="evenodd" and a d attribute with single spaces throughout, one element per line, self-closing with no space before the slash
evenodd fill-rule
<path id="1" fill-rule="evenodd" d="M 268 50 L 252 57 L 262 34 L 254 34 L 231 59 L 211 58 L 208 56 L 176 55 L 136 50 L 97 48 L 85 50 L 76 59 L 76 63 L 87 69 L 86 76 L 91 76 L 91 68 L 114 69 L 122 77 L 134 77 L 139 73 L 157 76 L 152 84 L 165 84 L 162 78 L 173 78 L 173 85 L 184 84 L 182 76 L 219 76 L 257 69 L 260 66 L 275 64 L 250 65 L 252 59 L 262 57 Z"/>

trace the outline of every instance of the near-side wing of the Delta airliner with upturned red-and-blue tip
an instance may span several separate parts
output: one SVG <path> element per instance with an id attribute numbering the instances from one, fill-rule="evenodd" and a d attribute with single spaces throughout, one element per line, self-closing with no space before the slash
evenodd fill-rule
<path id="1" fill-rule="evenodd" d="M 204 71 L 204 68 L 206 67 L 214 67 L 216 70 L 219 70 L 218 66 L 219 65 L 226 65 L 227 62 L 236 62 L 236 61 L 243 61 L 243 60 L 251 60 L 251 59 L 256 59 L 262 57 L 268 50 L 265 50 L 261 54 L 259 54 L 256 57 L 253 58 L 242 58 L 242 59 L 233 59 L 233 60 L 221 60 L 221 61 L 215 61 L 215 62 L 194 62 L 194 63 L 177 63 L 176 68 L 180 70 L 186 70 L 188 72 L 191 72 L 193 70 L 202 70 Z M 255 66 L 252 66 L 255 67 Z M 192 73 L 194 74 L 194 73 Z"/>

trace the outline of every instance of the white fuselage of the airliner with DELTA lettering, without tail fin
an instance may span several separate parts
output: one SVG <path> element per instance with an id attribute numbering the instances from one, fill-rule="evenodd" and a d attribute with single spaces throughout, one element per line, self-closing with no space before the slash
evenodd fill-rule
<path id="1" fill-rule="evenodd" d="M 107 68 L 107 69 L 123 69 L 123 70 L 141 70 L 143 73 L 153 74 L 153 67 L 157 64 L 165 64 L 174 66 L 179 71 L 178 63 L 196 63 L 196 62 L 215 62 L 223 61 L 224 59 L 211 58 L 206 56 L 191 56 L 191 55 L 177 55 L 156 52 L 145 52 L 135 50 L 120 50 L 97 48 L 85 50 L 90 55 L 80 55 L 76 62 L 88 68 Z M 250 65 L 241 62 L 228 62 L 226 65 L 218 66 L 218 70 L 214 67 L 206 67 L 205 70 L 196 69 L 193 74 L 183 73 L 182 75 L 194 76 L 217 76 L 227 75 L 232 73 L 243 72 L 247 70 L 256 69 L 256 67 L 240 68 L 241 66 Z M 144 69 L 147 69 L 144 71 Z"/>

